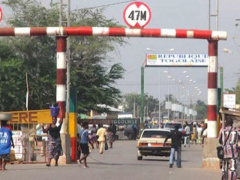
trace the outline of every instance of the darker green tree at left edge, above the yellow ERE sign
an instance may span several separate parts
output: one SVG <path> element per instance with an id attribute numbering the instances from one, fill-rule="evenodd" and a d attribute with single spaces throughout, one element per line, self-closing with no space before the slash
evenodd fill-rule
<path id="1" fill-rule="evenodd" d="M 23 62 L 15 60 L 11 49 L 4 42 L 0 41 L 0 47 L 0 109 L 18 110 L 19 106 L 24 109 L 25 103 L 22 102 L 25 102 L 26 89 L 22 88 L 25 86 Z"/>

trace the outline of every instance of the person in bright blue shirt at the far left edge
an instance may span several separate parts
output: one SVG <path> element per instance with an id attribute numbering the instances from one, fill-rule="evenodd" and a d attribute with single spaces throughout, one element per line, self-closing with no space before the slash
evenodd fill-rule
<path id="1" fill-rule="evenodd" d="M 14 148 L 12 131 L 7 128 L 7 121 L 1 121 L 0 128 L 0 170 L 6 169 L 7 162 L 10 162 L 11 145 Z"/>

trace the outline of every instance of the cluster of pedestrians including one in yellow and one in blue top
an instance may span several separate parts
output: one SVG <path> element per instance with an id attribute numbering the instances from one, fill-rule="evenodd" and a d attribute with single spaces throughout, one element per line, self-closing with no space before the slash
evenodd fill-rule
<path id="1" fill-rule="evenodd" d="M 93 124 L 93 129 L 89 133 L 88 132 L 88 122 L 82 123 L 82 128 L 78 131 L 78 157 L 77 162 L 80 166 L 82 161 L 84 161 L 84 168 L 87 168 L 87 157 L 90 154 L 89 146 L 91 145 L 91 148 L 94 149 L 94 144 L 96 144 L 96 148 L 99 149 L 99 153 L 103 154 L 103 149 L 108 149 L 107 145 L 107 139 L 109 143 L 109 147 L 113 148 L 113 142 L 115 141 L 115 135 L 116 135 L 116 126 L 112 123 L 109 124 L 108 128 L 103 127 L 103 124 L 98 124 L 98 127 L 96 127 L 95 124 Z M 107 138 L 108 137 L 108 138 Z M 81 157 L 81 154 L 83 156 Z"/>

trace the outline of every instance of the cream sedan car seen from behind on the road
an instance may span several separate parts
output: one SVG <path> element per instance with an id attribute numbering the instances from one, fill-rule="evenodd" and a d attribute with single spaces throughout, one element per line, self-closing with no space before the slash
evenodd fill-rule
<path id="1" fill-rule="evenodd" d="M 169 133 L 167 129 L 144 129 L 137 143 L 137 159 L 142 160 L 143 156 L 170 156 L 171 139 L 163 146 Z"/>

